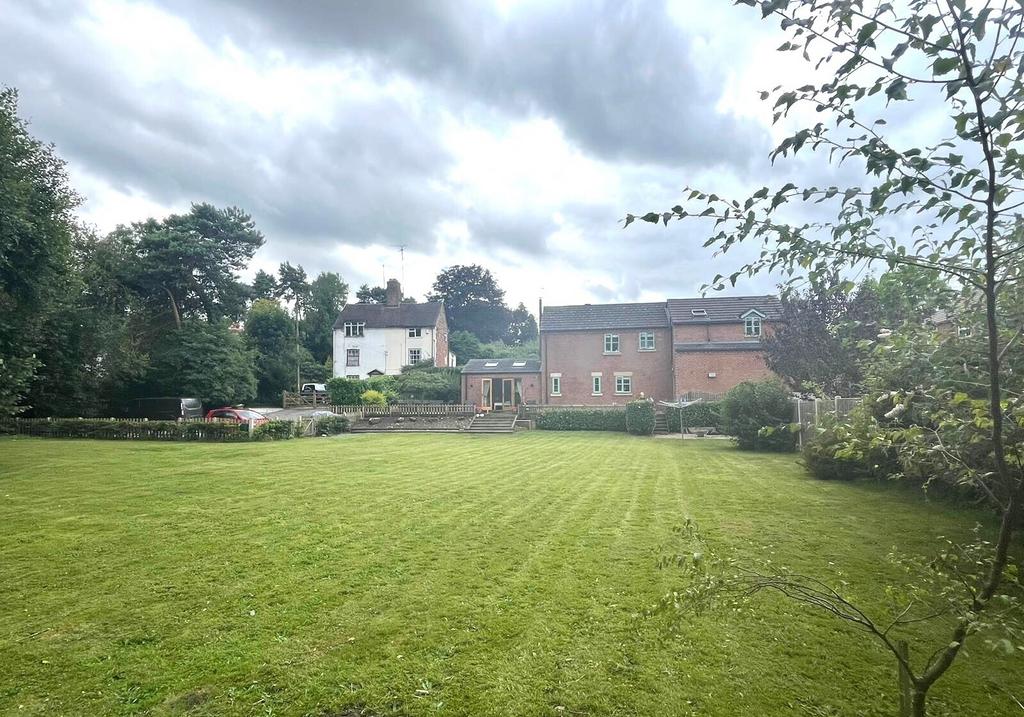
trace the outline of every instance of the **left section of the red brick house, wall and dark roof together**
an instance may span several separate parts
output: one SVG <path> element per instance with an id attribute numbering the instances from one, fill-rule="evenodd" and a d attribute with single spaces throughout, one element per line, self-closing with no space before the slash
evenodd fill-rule
<path id="1" fill-rule="evenodd" d="M 673 399 L 672 325 L 664 301 L 545 306 L 542 403 L 609 406 Z"/>

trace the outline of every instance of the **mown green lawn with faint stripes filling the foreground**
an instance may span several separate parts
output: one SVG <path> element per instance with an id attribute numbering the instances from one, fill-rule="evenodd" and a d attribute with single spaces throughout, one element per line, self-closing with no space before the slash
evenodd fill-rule
<path id="1" fill-rule="evenodd" d="M 644 617 L 693 516 L 869 602 L 984 516 L 794 456 L 617 434 L 0 440 L 0 714 L 892 715 L 874 644 L 776 597 Z M 976 645 L 934 715 L 1020 715 Z"/>

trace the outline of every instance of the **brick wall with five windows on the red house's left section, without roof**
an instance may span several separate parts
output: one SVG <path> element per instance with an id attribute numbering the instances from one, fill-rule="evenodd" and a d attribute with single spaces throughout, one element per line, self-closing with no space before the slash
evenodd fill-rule
<path id="1" fill-rule="evenodd" d="M 654 333 L 654 350 L 638 350 L 641 331 Z M 620 352 L 604 353 L 604 335 L 617 334 Z M 541 335 L 544 403 L 552 406 L 608 406 L 645 396 L 672 399 L 672 331 L 618 329 L 610 331 L 545 331 Z M 600 372 L 601 395 L 593 395 L 592 374 Z M 633 391 L 615 393 L 615 373 L 630 372 Z M 551 374 L 561 374 L 561 395 L 551 395 Z"/>

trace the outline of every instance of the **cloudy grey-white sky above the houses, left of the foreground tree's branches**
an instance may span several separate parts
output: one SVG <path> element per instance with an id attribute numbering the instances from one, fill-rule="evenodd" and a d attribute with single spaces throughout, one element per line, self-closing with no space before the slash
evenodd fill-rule
<path id="1" fill-rule="evenodd" d="M 468 262 L 530 307 L 693 295 L 737 258 L 624 214 L 800 172 L 769 173 L 782 130 L 757 101 L 799 68 L 728 0 L 0 0 L 0 83 L 85 219 L 238 205 L 267 238 L 254 268 L 379 284 L 404 247 L 421 297 Z"/>

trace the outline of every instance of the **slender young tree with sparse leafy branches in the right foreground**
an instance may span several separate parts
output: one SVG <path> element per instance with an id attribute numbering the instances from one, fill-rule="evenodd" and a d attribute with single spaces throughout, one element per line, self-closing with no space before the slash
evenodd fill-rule
<path id="1" fill-rule="evenodd" d="M 792 111 L 804 108 L 821 118 L 784 137 L 773 160 L 821 151 L 829 159 L 862 165 L 863 185 L 798 187 L 791 182 L 735 200 L 693 189 L 685 206 L 629 215 L 626 223 L 703 217 L 715 222 L 706 246 L 727 253 L 743 244 L 758 245 L 757 258 L 729 277 L 716 277 L 715 288 L 765 270 L 807 271 L 813 278 L 837 266 L 876 263 L 927 269 L 981 297 L 985 398 L 972 402 L 967 394 L 950 395 L 939 387 L 898 392 L 887 416 L 912 407 L 931 415 L 933 428 L 897 426 L 876 438 L 898 447 L 903 463 L 918 462 L 973 487 L 998 511 L 999 526 L 991 540 L 956 546 L 953 556 L 942 543 L 943 552 L 933 564 L 955 580 L 943 588 L 939 611 L 923 615 L 922 603 L 910 599 L 882 622 L 844 598 L 841 589 L 823 590 L 820 581 L 755 575 L 748 586 L 824 607 L 878 639 L 899 665 L 902 711 L 920 717 L 929 690 L 968 640 L 1000 624 L 998 595 L 1010 573 L 1015 535 L 1024 525 L 1024 446 L 1015 433 L 1024 425 L 1024 398 L 1004 386 L 1007 352 L 1024 327 L 1010 337 L 999 330 L 1000 319 L 1009 313 L 1010 290 L 1022 279 L 1024 252 L 1024 155 L 1017 149 L 1024 139 L 1024 5 L 772 0 L 760 8 L 764 16 L 777 18 L 787 35 L 780 51 L 801 53 L 818 76 L 823 69 L 833 71 L 830 77 L 796 89 L 762 93 L 765 99 L 774 97 L 776 121 L 796 119 Z M 945 136 L 938 141 L 914 146 L 920 135 L 888 131 L 883 115 L 912 97 L 945 103 Z M 828 209 L 836 218 L 794 222 L 792 212 L 786 218 L 778 210 L 796 202 L 813 202 L 816 215 Z M 920 221 L 910 233 L 902 223 L 905 217 Z M 943 621 L 949 634 L 918 655 L 896 635 L 902 629 L 910 639 L 906 626 L 922 620 Z"/>

